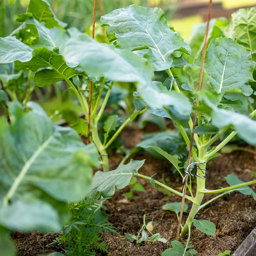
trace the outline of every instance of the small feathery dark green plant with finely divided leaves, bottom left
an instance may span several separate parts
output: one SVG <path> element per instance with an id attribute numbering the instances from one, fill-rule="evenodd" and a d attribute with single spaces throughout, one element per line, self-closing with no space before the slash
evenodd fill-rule
<path id="1" fill-rule="evenodd" d="M 107 231 L 118 234 L 114 227 L 107 223 L 108 216 L 100 210 L 102 203 L 109 199 L 94 195 L 70 205 L 71 218 L 62 230 L 62 235 L 54 243 L 67 245 L 67 255 L 96 255 L 95 249 L 108 252 L 106 244 L 101 241 L 101 234 Z M 95 248 L 95 249 L 94 249 Z"/>

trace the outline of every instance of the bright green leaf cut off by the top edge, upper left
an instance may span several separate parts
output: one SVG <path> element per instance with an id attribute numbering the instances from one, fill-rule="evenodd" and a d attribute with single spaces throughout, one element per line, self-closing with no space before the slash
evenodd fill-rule
<path id="1" fill-rule="evenodd" d="M 55 16 L 50 4 L 46 0 L 30 0 L 28 11 L 40 23 L 44 22 L 47 28 L 66 27 L 67 23 L 61 22 Z"/>

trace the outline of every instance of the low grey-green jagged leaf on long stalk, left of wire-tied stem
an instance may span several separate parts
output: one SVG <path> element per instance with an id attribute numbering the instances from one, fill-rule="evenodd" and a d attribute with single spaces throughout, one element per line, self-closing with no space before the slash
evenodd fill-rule
<path id="1" fill-rule="evenodd" d="M 93 195 L 98 191 L 104 197 L 113 196 L 115 194 L 115 187 L 117 189 L 126 187 L 130 183 L 133 173 L 137 173 L 144 162 L 145 160 L 131 160 L 126 165 L 120 164 L 114 171 L 97 171 L 93 178 L 90 194 Z"/>

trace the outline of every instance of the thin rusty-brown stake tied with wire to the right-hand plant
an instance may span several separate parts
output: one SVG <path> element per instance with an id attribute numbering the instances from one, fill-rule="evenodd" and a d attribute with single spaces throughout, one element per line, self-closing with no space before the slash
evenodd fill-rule
<path id="1" fill-rule="evenodd" d="M 206 31 L 205 31 L 205 37 L 204 37 L 204 48 L 203 48 L 203 54 L 202 54 L 202 62 L 201 62 L 201 70 L 200 70 L 198 91 L 201 91 L 201 87 L 202 87 L 204 61 L 205 61 L 205 55 L 206 55 L 206 45 L 207 45 L 207 39 L 208 39 L 208 31 L 209 31 L 209 23 L 210 23 L 210 19 L 211 19 L 211 12 L 212 12 L 212 0 L 210 0 L 210 2 L 209 2 L 208 19 L 207 19 Z M 198 105 L 199 105 L 199 98 L 196 99 L 196 106 L 198 106 Z M 195 110 L 195 113 L 194 113 L 193 129 L 192 129 L 192 132 L 191 132 L 191 140 L 190 140 L 190 147 L 189 147 L 189 153 L 188 153 L 188 165 L 187 165 L 187 167 L 189 166 L 190 159 L 191 159 L 192 146 L 193 146 L 193 141 L 194 141 L 193 130 L 196 127 L 196 117 L 197 117 L 197 110 Z M 181 225 L 184 202 L 185 202 L 187 182 L 188 182 L 188 175 L 186 176 L 185 181 L 184 181 L 184 194 L 182 196 L 182 202 L 181 202 L 181 207 L 180 207 L 180 219 L 179 219 L 179 225 L 178 225 L 178 229 L 177 229 L 176 240 L 179 239 L 179 235 L 180 235 L 180 225 Z"/>

